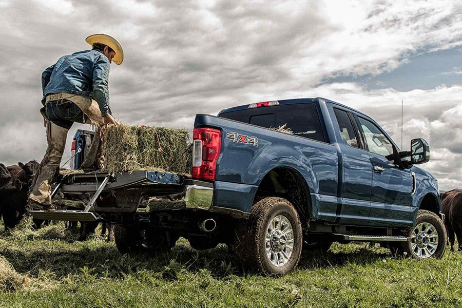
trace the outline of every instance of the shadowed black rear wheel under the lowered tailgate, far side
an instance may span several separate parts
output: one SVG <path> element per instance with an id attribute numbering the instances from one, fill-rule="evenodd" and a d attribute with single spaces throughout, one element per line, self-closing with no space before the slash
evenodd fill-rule
<path id="1" fill-rule="evenodd" d="M 156 229 L 139 229 L 133 226 L 114 226 L 114 241 L 122 254 L 143 251 L 168 251 L 175 246 L 179 236 Z"/>

